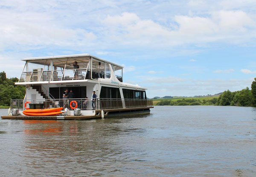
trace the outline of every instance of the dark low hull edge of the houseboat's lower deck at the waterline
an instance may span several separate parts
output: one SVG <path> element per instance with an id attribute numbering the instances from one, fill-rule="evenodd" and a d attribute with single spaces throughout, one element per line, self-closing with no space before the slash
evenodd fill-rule
<path id="1" fill-rule="evenodd" d="M 150 113 L 150 108 L 152 107 L 134 107 L 134 108 L 118 108 L 118 109 L 105 109 L 104 118 L 109 118 L 112 116 L 131 116 L 131 115 L 138 115 L 138 114 L 148 114 Z M 2 119 L 100 119 L 102 118 L 101 115 L 102 110 L 95 110 L 94 115 L 82 115 L 82 116 L 1 116 Z M 64 112 L 63 112 L 64 113 Z"/>

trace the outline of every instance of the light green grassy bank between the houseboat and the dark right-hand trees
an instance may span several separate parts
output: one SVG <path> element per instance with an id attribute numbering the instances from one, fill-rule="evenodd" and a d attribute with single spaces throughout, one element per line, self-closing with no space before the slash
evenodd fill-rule
<path id="1" fill-rule="evenodd" d="M 215 105 L 219 96 L 201 98 L 179 98 L 179 99 L 153 99 L 153 105 Z"/>

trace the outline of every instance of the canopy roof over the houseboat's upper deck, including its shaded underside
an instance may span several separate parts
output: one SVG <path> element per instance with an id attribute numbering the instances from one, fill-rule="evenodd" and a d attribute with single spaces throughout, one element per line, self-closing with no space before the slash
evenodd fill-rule
<path id="1" fill-rule="evenodd" d="M 101 58 L 95 57 L 95 56 L 87 54 L 87 53 L 77 54 L 77 55 L 59 55 L 59 56 L 49 56 L 49 57 L 24 58 L 24 59 L 22 59 L 22 61 L 27 61 L 27 62 L 33 63 L 33 64 L 42 64 L 42 65 L 49 66 L 51 64 L 51 60 L 52 60 L 53 65 L 55 67 L 64 67 L 65 64 L 67 63 L 66 68 L 73 69 L 74 61 L 76 61 L 79 64 L 80 68 L 83 68 L 84 66 L 87 66 L 87 63 L 89 62 L 90 57 L 93 58 L 93 65 L 95 65 L 95 67 L 96 66 L 100 67 L 99 69 L 104 70 L 104 65 L 102 64 L 99 66 L 99 62 L 110 63 L 115 67 L 115 70 L 120 70 L 123 68 L 122 66 L 120 66 L 118 64 L 114 64 L 110 61 L 103 60 Z M 68 62 L 67 62 L 67 59 L 68 59 Z"/>

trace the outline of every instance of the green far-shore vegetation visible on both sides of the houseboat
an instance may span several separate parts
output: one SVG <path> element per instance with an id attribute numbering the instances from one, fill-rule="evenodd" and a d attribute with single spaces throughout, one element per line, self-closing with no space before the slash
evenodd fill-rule
<path id="1" fill-rule="evenodd" d="M 18 78 L 6 78 L 6 73 L 0 72 L 0 108 L 9 108 L 11 99 L 24 99 L 26 87 L 15 85 Z M 256 78 L 251 84 L 251 90 L 246 87 L 243 90 L 231 92 L 226 90 L 221 95 L 177 97 L 155 97 L 154 105 L 186 106 L 186 105 L 219 105 L 219 106 L 253 106 L 256 107 Z"/>

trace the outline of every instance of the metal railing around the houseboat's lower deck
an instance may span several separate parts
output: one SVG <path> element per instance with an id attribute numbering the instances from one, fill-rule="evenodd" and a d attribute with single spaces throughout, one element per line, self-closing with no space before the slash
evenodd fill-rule
<path id="1" fill-rule="evenodd" d="M 131 108 L 131 107 L 152 107 L 153 101 L 151 99 L 41 99 L 41 100 L 11 100 L 11 109 L 25 109 L 25 103 L 43 105 L 43 108 L 63 107 L 71 110 L 70 102 L 76 101 L 77 108 L 81 110 L 105 110 L 117 108 Z M 124 105 L 125 104 L 125 107 Z M 26 105 L 29 107 L 29 104 Z M 75 107 L 75 104 L 73 104 Z"/>

